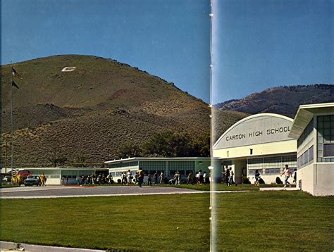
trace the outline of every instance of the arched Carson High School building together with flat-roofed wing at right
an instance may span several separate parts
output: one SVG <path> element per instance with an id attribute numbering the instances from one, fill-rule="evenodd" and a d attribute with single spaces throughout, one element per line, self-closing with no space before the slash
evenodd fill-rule
<path id="1" fill-rule="evenodd" d="M 213 156 L 220 160 L 219 170 L 224 165 L 233 169 L 237 183 L 242 177 L 254 183 L 255 170 L 266 184 L 276 183 L 289 165 L 297 169 L 299 189 L 333 195 L 334 103 L 299 106 L 294 120 L 273 113 L 250 115 L 221 135 Z"/>

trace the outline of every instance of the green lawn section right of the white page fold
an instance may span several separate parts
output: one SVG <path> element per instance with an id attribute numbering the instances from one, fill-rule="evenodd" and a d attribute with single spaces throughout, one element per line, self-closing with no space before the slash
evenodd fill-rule
<path id="1" fill-rule="evenodd" d="M 334 197 L 303 191 L 219 195 L 218 248 L 241 251 L 333 251 Z"/>

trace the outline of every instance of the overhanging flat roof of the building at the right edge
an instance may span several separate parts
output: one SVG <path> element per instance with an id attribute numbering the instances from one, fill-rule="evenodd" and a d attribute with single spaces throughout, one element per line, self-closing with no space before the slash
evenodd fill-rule
<path id="1" fill-rule="evenodd" d="M 289 137 L 298 139 L 307 125 L 309 125 L 309 122 L 311 122 L 314 114 L 317 113 L 334 113 L 334 103 L 316 103 L 299 106 Z"/>

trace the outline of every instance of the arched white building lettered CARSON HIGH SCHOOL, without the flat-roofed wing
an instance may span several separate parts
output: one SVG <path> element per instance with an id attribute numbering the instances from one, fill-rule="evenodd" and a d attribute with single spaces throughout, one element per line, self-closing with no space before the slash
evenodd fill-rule
<path id="1" fill-rule="evenodd" d="M 248 177 L 254 183 L 259 170 L 266 184 L 276 182 L 284 165 L 297 168 L 297 141 L 289 137 L 293 120 L 284 115 L 261 113 L 236 122 L 214 144 L 221 170 L 231 167 L 235 182 Z"/>

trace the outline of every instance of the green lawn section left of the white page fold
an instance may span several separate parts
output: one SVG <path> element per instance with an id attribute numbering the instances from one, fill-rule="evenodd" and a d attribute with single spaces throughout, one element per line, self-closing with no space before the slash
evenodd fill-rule
<path id="1" fill-rule="evenodd" d="M 209 250 L 209 194 L 1 201 L 0 239 L 5 241 L 142 251 Z"/>

